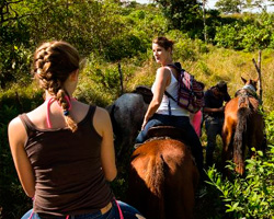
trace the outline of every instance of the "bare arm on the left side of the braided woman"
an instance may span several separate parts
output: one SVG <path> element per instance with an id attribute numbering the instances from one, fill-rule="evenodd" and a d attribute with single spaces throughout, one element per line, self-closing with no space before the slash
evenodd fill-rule
<path id="1" fill-rule="evenodd" d="M 27 139 L 27 134 L 24 125 L 19 117 L 11 120 L 8 128 L 9 142 L 11 154 L 19 175 L 19 180 L 25 194 L 28 197 L 34 197 L 35 178 L 31 162 L 24 149 L 24 143 Z"/>

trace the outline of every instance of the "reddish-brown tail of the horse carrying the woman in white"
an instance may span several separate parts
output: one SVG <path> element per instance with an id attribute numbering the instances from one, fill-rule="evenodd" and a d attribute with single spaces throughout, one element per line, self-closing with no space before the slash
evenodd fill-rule
<path id="1" fill-rule="evenodd" d="M 156 155 L 156 158 L 149 163 L 147 174 L 147 185 L 152 193 L 151 201 L 149 200 L 149 209 L 157 214 L 157 218 L 163 219 L 164 216 L 164 181 L 167 172 L 167 163 L 163 160 L 162 154 Z M 153 209 L 153 210 L 152 210 Z M 156 215 L 153 216 L 156 217 Z"/>

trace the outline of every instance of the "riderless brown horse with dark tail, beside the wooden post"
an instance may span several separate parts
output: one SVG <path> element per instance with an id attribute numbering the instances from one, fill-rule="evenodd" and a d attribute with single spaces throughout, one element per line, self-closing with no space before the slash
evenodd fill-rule
<path id="1" fill-rule="evenodd" d="M 244 87 L 237 91 L 236 97 L 225 107 L 222 127 L 222 161 L 233 158 L 236 172 L 244 173 L 246 146 L 265 150 L 264 120 L 259 112 L 260 101 L 256 96 L 256 80 L 242 78 Z"/>

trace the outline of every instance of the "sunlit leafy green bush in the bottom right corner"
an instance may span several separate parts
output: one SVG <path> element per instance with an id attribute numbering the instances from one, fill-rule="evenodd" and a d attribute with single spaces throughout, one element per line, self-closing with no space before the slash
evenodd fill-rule
<path id="1" fill-rule="evenodd" d="M 266 119 L 266 129 L 273 140 L 273 112 Z M 269 146 L 266 155 L 255 151 L 255 158 L 248 159 L 246 176 L 233 174 L 233 180 L 222 178 L 212 168 L 207 171 L 209 184 L 220 192 L 229 218 L 272 218 L 274 215 L 274 147 Z M 227 165 L 231 172 L 235 165 Z"/>

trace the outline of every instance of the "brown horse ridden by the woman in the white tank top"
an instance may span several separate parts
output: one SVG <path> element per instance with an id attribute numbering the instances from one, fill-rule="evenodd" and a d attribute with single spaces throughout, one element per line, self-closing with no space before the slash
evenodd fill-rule
<path id="1" fill-rule="evenodd" d="M 191 219 L 197 183 L 198 171 L 186 146 L 156 138 L 132 155 L 128 203 L 148 219 Z"/>

